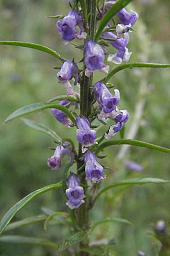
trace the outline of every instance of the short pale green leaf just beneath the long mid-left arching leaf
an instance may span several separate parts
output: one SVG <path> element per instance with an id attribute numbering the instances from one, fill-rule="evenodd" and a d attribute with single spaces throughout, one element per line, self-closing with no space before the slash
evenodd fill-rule
<path id="1" fill-rule="evenodd" d="M 42 133 L 50 135 L 52 138 L 56 139 L 57 142 L 60 142 L 62 139 L 57 135 L 57 133 L 50 128 L 42 125 L 39 122 L 35 122 L 32 120 L 29 120 L 27 118 L 21 118 L 21 120 L 25 123 L 25 125 L 28 125 L 29 127 L 37 130 L 42 131 Z"/>

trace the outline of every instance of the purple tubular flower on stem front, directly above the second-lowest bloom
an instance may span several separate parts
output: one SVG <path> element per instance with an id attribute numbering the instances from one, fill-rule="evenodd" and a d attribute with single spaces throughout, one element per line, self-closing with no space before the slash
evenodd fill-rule
<path id="1" fill-rule="evenodd" d="M 78 142 L 82 144 L 82 152 L 85 152 L 87 149 L 84 147 L 89 147 L 95 143 L 96 131 L 90 129 L 90 122 L 83 116 L 76 118 L 76 125 L 78 126 L 76 137 Z"/>

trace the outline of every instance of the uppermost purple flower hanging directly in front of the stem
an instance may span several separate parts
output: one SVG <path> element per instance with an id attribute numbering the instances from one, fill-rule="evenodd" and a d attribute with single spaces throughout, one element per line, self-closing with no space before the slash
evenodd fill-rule
<path id="1" fill-rule="evenodd" d="M 92 40 L 86 40 L 84 44 L 85 64 L 86 64 L 86 76 L 90 76 L 91 73 L 100 70 L 101 72 L 108 73 L 109 66 L 104 64 L 104 51 L 103 48 L 93 42 Z"/>

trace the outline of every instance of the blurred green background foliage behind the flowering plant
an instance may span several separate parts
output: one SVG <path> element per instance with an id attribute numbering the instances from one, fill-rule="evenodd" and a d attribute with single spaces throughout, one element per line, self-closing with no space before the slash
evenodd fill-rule
<path id="1" fill-rule="evenodd" d="M 82 52 L 75 50 L 70 44 L 67 46 L 62 44 L 55 26 L 56 21 L 46 18 L 49 15 L 67 14 L 68 2 L 1 0 L 0 40 L 40 43 L 56 49 L 67 59 L 75 57 L 75 60 L 80 60 Z M 139 20 L 134 27 L 135 32 L 130 33 L 129 50 L 133 52 L 130 61 L 170 63 L 169 0 L 138 0 L 128 8 L 139 13 Z M 2 217 L 16 201 L 28 193 L 61 179 L 61 171 L 50 171 L 46 165 L 46 159 L 52 155 L 48 147 L 54 146 L 50 137 L 30 129 L 19 119 L 5 126 L 2 123 L 14 110 L 65 94 L 65 90 L 57 82 L 56 70 L 53 67 L 60 63 L 53 56 L 33 49 L 0 46 L 0 61 L 0 214 Z M 95 80 L 97 81 L 99 77 L 103 75 L 96 72 Z M 129 133 L 133 133 L 136 139 L 169 147 L 169 69 L 129 69 L 118 73 L 111 82 L 120 90 L 120 108 L 126 108 L 130 112 L 126 137 Z M 68 137 L 69 133 L 76 141 L 75 128 L 63 127 L 53 118 L 50 110 L 30 114 L 28 118 L 56 130 L 62 138 Z M 104 127 L 103 131 L 105 130 L 107 129 Z M 117 138 L 118 136 L 116 135 Z M 127 177 L 170 179 L 168 154 L 136 147 L 129 147 L 126 150 L 125 147 L 122 149 L 120 146 L 111 147 L 106 152 L 109 157 L 101 162 L 107 164 L 111 170 L 106 171 L 108 179 L 101 184 L 103 187 Z M 128 171 L 124 167 L 125 160 L 134 160 L 142 164 L 143 172 Z M 159 219 L 170 221 L 169 191 L 168 184 L 136 185 L 124 190 L 111 190 L 101 196 L 91 210 L 92 223 L 104 217 L 121 217 L 133 222 L 134 226 L 131 228 L 121 224 L 102 225 L 92 234 L 91 242 L 114 237 L 116 245 L 112 246 L 112 255 L 135 256 L 138 250 L 143 250 L 150 256 L 156 255 L 155 246 L 158 242 L 148 236 L 148 231 Z M 63 198 L 62 191 L 48 192 L 29 203 L 14 220 L 40 214 L 41 207 L 54 211 L 67 210 L 65 203 L 66 199 Z M 69 230 L 62 224 L 56 224 L 50 225 L 45 233 L 41 223 L 9 234 L 46 237 L 59 242 L 69 234 Z M 48 247 L 1 243 L 0 255 L 64 254 L 56 254 L 56 251 Z"/>

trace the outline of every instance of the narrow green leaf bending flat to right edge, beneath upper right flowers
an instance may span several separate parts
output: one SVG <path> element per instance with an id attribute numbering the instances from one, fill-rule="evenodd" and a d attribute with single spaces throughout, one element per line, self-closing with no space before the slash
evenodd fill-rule
<path id="1" fill-rule="evenodd" d="M 108 73 L 104 79 L 104 83 L 108 82 L 111 77 L 117 72 L 126 68 L 170 68 L 170 64 L 159 64 L 159 63 L 128 63 L 121 66 L 117 66 L 111 72 Z"/>

